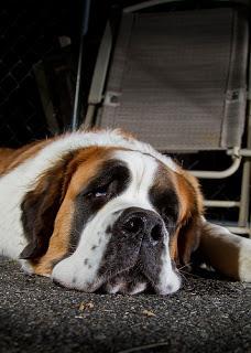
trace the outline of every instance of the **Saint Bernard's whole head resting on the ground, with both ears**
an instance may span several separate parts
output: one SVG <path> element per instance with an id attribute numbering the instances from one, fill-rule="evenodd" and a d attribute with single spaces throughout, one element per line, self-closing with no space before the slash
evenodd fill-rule
<path id="1" fill-rule="evenodd" d="M 26 193 L 21 258 L 68 288 L 167 295 L 197 248 L 201 196 L 172 161 L 123 148 L 69 152 Z"/>

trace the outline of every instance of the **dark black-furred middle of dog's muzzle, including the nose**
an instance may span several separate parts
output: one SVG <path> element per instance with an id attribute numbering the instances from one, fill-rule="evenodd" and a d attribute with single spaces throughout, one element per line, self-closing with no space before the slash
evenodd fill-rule
<path id="1" fill-rule="evenodd" d="M 161 292 L 163 267 L 173 269 L 167 261 L 167 231 L 160 215 L 150 210 L 129 207 L 110 232 L 111 238 L 99 270 L 99 276 L 106 278 L 103 289 L 134 293 L 151 286 Z M 172 285 L 167 291 L 174 291 Z"/>

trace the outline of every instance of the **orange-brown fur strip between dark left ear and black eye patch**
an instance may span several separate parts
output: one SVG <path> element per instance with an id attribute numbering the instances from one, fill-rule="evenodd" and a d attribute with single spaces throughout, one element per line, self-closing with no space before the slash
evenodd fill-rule
<path id="1" fill-rule="evenodd" d="M 105 160 L 110 157 L 112 148 L 89 147 L 79 150 L 69 161 L 66 179 L 70 179 L 62 205 L 57 212 L 54 232 L 51 236 L 47 252 L 37 261 L 33 269 L 37 275 L 50 275 L 56 261 L 63 258 L 70 249 L 70 225 L 74 215 L 75 199 L 85 185 L 97 174 Z"/>

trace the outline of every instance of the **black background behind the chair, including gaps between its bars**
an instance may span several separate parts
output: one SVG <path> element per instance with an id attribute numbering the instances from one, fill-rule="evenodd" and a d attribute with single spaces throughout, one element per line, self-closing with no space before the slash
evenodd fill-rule
<path id="1" fill-rule="evenodd" d="M 89 31 L 84 42 L 84 74 L 81 89 L 83 120 L 91 75 L 101 35 L 108 19 L 113 19 L 114 32 L 123 6 L 138 1 L 92 0 Z M 0 7 L 0 145 L 20 147 L 53 135 L 48 126 L 41 92 L 37 87 L 35 67 L 42 65 L 50 86 L 50 99 L 57 121 L 56 132 L 70 127 L 75 81 L 79 50 L 79 33 L 84 1 L 2 0 Z M 160 10 L 232 6 L 210 1 L 184 1 L 165 4 Z M 72 44 L 61 45 L 61 38 L 67 36 Z M 227 168 L 229 161 L 223 154 L 201 153 L 196 159 L 176 156 L 185 168 Z M 238 200 L 241 175 L 234 174 L 223 181 L 204 181 L 206 196 L 210 199 Z M 208 211 L 212 218 L 236 220 L 237 210 Z"/>

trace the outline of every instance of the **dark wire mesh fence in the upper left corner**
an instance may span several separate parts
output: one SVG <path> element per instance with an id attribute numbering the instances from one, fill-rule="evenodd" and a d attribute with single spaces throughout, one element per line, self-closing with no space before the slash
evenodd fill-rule
<path id="1" fill-rule="evenodd" d="M 50 135 L 33 67 L 58 51 L 67 31 L 65 1 L 2 1 L 0 9 L 0 141 L 18 147 Z"/>

